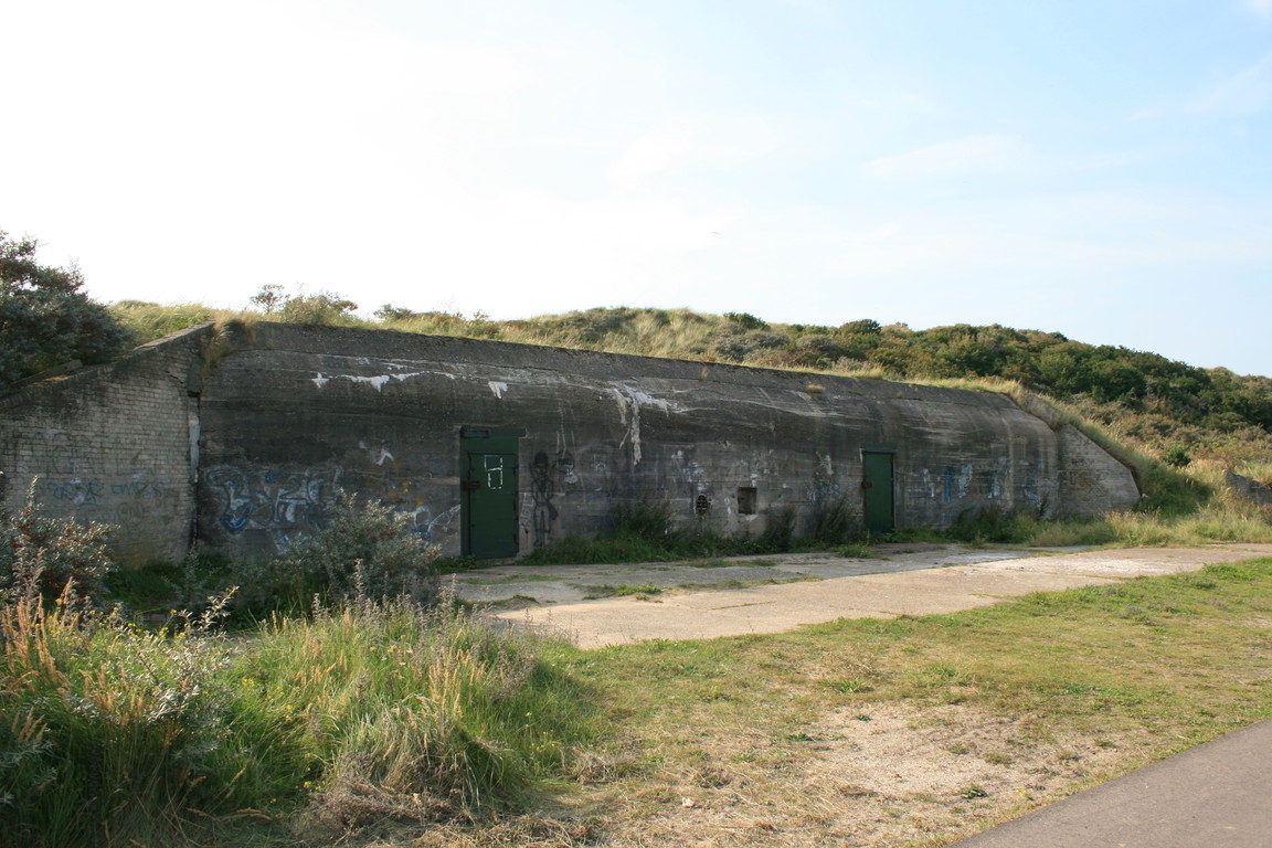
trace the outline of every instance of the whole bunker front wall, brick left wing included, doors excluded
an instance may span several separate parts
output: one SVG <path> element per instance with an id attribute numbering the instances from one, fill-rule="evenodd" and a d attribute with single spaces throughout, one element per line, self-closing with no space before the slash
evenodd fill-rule
<path id="1" fill-rule="evenodd" d="M 665 501 L 677 521 L 809 530 L 862 517 L 887 451 L 899 526 L 985 509 L 1046 517 L 1135 503 L 1130 472 L 1011 399 L 880 380 L 476 339 L 257 324 L 198 328 L 0 400 L 4 502 L 121 525 L 123 559 L 285 551 L 338 489 L 463 551 L 464 427 L 516 432 L 516 551 Z"/>

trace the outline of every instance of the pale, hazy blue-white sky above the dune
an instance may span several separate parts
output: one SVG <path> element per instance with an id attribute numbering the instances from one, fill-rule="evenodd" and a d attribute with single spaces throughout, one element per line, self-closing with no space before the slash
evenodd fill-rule
<path id="1" fill-rule="evenodd" d="M 0 229 L 262 285 L 1272 375 L 1272 0 L 0 0 Z"/>

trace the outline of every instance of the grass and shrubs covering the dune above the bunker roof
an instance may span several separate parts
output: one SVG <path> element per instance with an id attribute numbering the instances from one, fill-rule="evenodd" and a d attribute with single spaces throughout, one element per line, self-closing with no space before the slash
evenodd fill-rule
<path id="1" fill-rule="evenodd" d="M 1262 474 L 1257 464 L 1272 455 L 1272 379 L 1201 369 L 1124 347 L 1086 345 L 1054 332 L 999 324 L 913 331 L 906 324 L 881 325 L 870 319 L 833 327 L 771 324 L 747 313 L 710 315 L 628 306 L 492 320 L 483 314 L 466 318 L 385 304 L 374 320 L 364 320 L 340 295 L 289 295 L 279 286 L 266 286 L 254 301 L 261 313 L 235 315 L 848 376 L 973 380 L 978 383 L 968 388 L 993 390 L 1018 386 L 1053 399 L 1072 409 L 1075 417 L 1090 420 L 1114 439 L 1141 446 L 1174 467 L 1215 460 L 1231 468 L 1255 464 L 1253 473 Z M 137 333 L 150 337 L 172 327 L 177 317 L 190 320 L 212 315 L 200 306 L 137 303 L 118 304 L 114 311 Z"/>

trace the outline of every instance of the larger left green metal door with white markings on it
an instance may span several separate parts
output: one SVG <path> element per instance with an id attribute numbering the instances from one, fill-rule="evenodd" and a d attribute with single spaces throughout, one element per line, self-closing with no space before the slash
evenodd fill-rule
<path id="1" fill-rule="evenodd" d="M 515 557 L 516 439 L 492 431 L 464 434 L 463 547 L 478 559 Z"/>

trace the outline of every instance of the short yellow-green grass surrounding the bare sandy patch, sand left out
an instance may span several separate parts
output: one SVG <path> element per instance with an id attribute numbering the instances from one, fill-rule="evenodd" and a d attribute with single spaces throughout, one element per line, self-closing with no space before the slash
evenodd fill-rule
<path id="1" fill-rule="evenodd" d="M 862 727 L 894 708 L 923 716 L 958 706 L 1001 717 L 1016 727 L 1002 748 L 954 745 L 995 767 L 1018 763 L 1048 740 L 1084 739 L 1108 758 L 1100 769 L 1086 770 L 1079 762 L 1085 753 L 1054 754 L 1056 768 L 1076 769 L 1079 783 L 1272 716 L 1272 559 L 1030 595 L 953 615 L 609 647 L 576 655 L 570 669 L 602 693 L 614 727 L 599 759 L 625 764 L 625 777 L 571 804 L 604 810 L 616 842 L 623 834 L 654 839 L 668 806 L 692 793 L 717 809 L 745 796 L 754 806 L 739 810 L 750 820 L 787 810 L 781 817 L 790 829 L 775 824 L 785 834 L 757 833 L 754 844 L 824 844 L 834 837 L 833 815 L 801 819 L 794 811 L 817 806 L 801 795 L 809 787 L 798 776 L 827 745 L 833 749 L 834 740 L 814 728 L 836 711 Z M 701 786 L 710 768 L 728 772 L 725 788 Z M 993 809 L 1042 800 L 1035 790 L 1019 792 Z M 988 816 L 990 807 L 976 816 L 954 811 L 973 797 L 981 793 L 939 800 L 940 810 L 929 814 L 936 816 L 934 831 L 965 833 L 968 821 Z M 918 804 L 894 804 L 911 801 Z"/>

